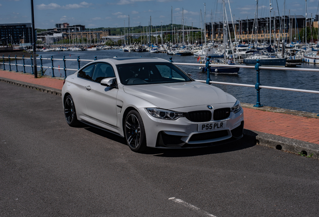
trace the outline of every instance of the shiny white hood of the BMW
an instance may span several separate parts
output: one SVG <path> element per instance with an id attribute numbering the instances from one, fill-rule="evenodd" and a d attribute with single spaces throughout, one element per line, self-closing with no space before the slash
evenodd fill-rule
<path id="1" fill-rule="evenodd" d="M 123 88 L 128 94 L 140 97 L 160 108 L 166 109 L 236 102 L 235 97 L 225 93 L 218 87 L 198 81 L 126 85 Z"/>

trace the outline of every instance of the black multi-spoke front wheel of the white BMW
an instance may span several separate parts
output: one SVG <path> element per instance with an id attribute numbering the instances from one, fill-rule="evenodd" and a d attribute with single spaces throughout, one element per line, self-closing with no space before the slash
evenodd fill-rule
<path id="1" fill-rule="evenodd" d="M 142 117 L 135 110 L 130 111 L 124 122 L 124 135 L 128 147 L 133 152 L 146 149 L 146 135 Z"/>

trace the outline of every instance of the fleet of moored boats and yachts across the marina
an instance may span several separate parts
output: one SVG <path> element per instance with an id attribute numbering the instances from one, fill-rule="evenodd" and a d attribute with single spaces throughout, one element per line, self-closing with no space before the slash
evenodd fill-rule
<path id="1" fill-rule="evenodd" d="M 316 49 L 315 49 L 316 48 Z M 207 45 L 182 45 L 182 44 L 163 44 L 163 45 L 140 45 L 132 44 L 126 46 L 74 46 L 74 47 L 56 47 L 43 48 L 37 51 L 97 51 L 106 49 L 119 49 L 124 52 L 150 52 L 150 53 L 167 53 L 168 55 L 190 56 L 197 58 L 198 62 L 205 63 L 206 58 L 210 58 L 211 64 L 229 64 L 229 67 L 218 66 L 211 67 L 212 73 L 229 73 L 236 74 L 239 67 L 232 66 L 235 62 L 246 65 L 255 65 L 259 59 L 263 66 L 285 67 L 297 66 L 301 62 L 319 63 L 319 45 L 317 44 L 280 44 L 269 45 L 259 43 L 245 45 L 239 43 L 224 44 L 208 43 Z M 202 71 L 207 71 L 205 67 L 200 67 Z"/>

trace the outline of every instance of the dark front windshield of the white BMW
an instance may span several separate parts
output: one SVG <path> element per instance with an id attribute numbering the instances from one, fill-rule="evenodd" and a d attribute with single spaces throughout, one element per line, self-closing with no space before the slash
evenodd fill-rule
<path id="1" fill-rule="evenodd" d="M 141 62 L 117 65 L 124 85 L 172 83 L 192 81 L 181 69 L 170 62 Z"/>

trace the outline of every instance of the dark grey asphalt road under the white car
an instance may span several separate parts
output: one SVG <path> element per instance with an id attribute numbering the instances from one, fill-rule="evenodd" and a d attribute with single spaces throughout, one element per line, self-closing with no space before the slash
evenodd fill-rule
<path id="1" fill-rule="evenodd" d="M 319 216 L 319 162 L 242 139 L 130 151 L 60 96 L 0 82 L 0 216 Z"/>

